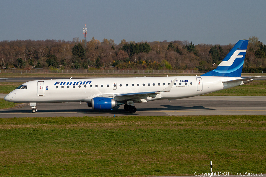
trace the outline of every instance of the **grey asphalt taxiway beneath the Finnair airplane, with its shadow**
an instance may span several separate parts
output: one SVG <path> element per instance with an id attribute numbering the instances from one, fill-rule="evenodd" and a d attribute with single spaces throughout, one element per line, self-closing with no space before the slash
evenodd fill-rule
<path id="1" fill-rule="evenodd" d="M 4 95 L 0 95 L 3 97 Z M 124 110 L 123 105 L 109 111 L 94 111 L 87 103 L 43 103 L 37 104 L 32 113 L 29 104 L 0 110 L 4 117 L 83 117 L 83 116 L 181 116 L 181 115 L 266 115 L 265 96 L 195 96 L 186 99 L 150 101 L 134 104 L 137 112 Z"/>

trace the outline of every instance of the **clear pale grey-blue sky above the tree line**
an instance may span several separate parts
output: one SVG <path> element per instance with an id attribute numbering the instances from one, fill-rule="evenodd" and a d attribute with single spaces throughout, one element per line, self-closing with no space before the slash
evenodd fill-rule
<path id="1" fill-rule="evenodd" d="M 247 0 L 1 0 L 0 41 L 100 42 L 188 40 L 195 45 L 236 43 L 250 36 L 266 43 L 266 1 Z"/>

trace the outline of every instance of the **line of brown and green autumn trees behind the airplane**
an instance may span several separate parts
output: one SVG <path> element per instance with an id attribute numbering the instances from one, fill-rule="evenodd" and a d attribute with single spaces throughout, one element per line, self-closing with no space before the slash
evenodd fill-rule
<path id="1" fill-rule="evenodd" d="M 233 44 L 194 45 L 189 41 L 135 42 L 113 39 L 87 42 L 74 37 L 64 40 L 14 40 L 0 42 L 0 68 L 30 69 L 149 69 L 207 72 L 219 65 Z M 266 68 L 266 45 L 258 37 L 249 37 L 246 68 Z M 259 70 L 261 71 L 261 69 Z"/>

